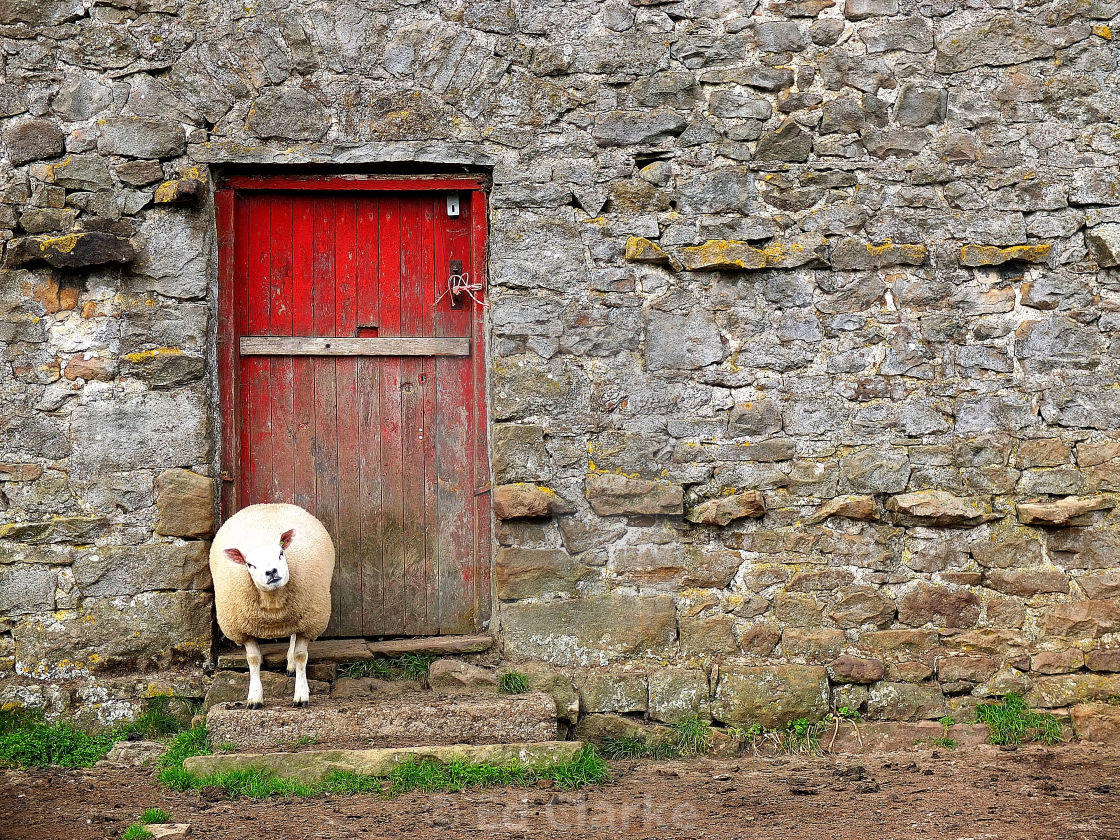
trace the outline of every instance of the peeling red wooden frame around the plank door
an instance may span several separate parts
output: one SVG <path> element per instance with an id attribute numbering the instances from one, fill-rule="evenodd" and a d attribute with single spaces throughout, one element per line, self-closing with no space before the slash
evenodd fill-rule
<path id="1" fill-rule="evenodd" d="M 470 259 L 475 277 L 488 289 L 487 234 L 488 214 L 485 180 L 479 176 L 376 176 L 376 175 L 236 175 L 224 179 L 215 194 L 217 224 L 217 377 L 221 433 L 221 498 L 220 521 L 239 508 L 239 482 L 234 479 L 241 463 L 241 436 L 236 420 L 240 391 L 237 360 L 240 357 L 237 326 L 234 317 L 235 214 L 236 196 L 246 192 L 284 190 L 373 190 L 373 192 L 459 192 L 470 197 Z M 477 305 L 474 305 L 477 306 Z M 479 446 L 475 448 L 473 515 L 475 557 L 479 573 L 476 587 L 479 628 L 489 625 L 494 610 L 491 591 L 493 567 L 492 513 L 488 504 L 479 500 L 489 495 L 492 487 L 489 457 L 489 388 L 486 377 L 487 349 L 486 318 L 482 308 L 475 312 L 470 326 L 470 344 L 476 352 L 472 358 L 472 385 L 475 407 L 470 416 L 472 433 Z"/>

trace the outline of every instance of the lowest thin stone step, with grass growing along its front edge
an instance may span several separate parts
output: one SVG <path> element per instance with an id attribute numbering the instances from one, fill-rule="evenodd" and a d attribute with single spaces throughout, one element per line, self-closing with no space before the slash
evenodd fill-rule
<path id="1" fill-rule="evenodd" d="M 553 740 L 529 744 L 456 744 L 450 746 L 389 747 L 383 749 L 308 749 L 301 753 L 241 753 L 192 756 L 184 768 L 198 775 L 241 769 L 267 769 L 281 778 L 305 784 L 323 781 L 335 771 L 384 776 L 408 762 L 431 758 L 441 764 L 522 764 L 547 766 L 570 762 L 582 741 Z"/>

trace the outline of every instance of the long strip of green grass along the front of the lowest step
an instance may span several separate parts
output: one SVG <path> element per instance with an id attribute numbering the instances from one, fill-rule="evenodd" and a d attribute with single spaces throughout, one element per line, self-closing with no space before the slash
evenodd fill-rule
<path id="1" fill-rule="evenodd" d="M 195 727 L 179 734 L 159 762 L 157 778 L 175 791 L 197 791 L 221 787 L 232 797 L 267 799 L 269 796 L 316 796 L 321 793 L 353 794 L 377 793 L 395 796 L 413 790 L 461 791 L 485 785 L 531 785 L 550 778 L 559 787 L 582 787 L 601 784 L 607 780 L 607 765 L 594 747 L 585 747 L 570 762 L 535 766 L 513 762 L 497 766 L 451 762 L 439 764 L 431 759 L 408 762 L 388 776 L 372 776 L 336 771 L 321 782 L 305 784 L 293 782 L 264 769 L 230 771 L 199 776 L 183 767 L 184 760 L 194 755 L 208 755 L 206 728 Z"/>

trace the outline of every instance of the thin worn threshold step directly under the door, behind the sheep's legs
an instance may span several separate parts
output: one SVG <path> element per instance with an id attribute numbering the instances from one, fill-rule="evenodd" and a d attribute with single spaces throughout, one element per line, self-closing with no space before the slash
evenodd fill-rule
<path id="1" fill-rule="evenodd" d="M 366 642 L 364 638 L 320 638 L 307 647 L 308 664 L 344 664 L 364 662 L 374 656 L 392 659 L 407 653 L 430 654 L 432 656 L 455 656 L 463 653 L 480 653 L 494 644 L 494 637 L 486 633 L 469 636 L 416 636 Z M 283 670 L 288 664 L 288 643 L 267 642 L 261 645 L 264 668 L 269 671 Z M 223 653 L 217 657 L 220 671 L 245 671 L 244 648 Z"/>

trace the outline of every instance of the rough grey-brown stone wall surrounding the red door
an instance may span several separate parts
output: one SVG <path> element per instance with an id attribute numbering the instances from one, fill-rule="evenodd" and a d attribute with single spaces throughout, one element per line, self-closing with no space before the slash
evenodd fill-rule
<path id="1" fill-rule="evenodd" d="M 0 702 L 202 693 L 213 187 L 300 164 L 493 178 L 510 660 L 724 721 L 1120 694 L 1118 15 L 3 0 Z"/>

